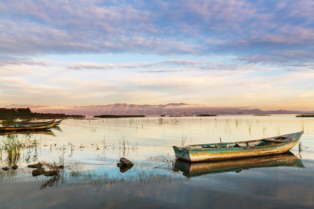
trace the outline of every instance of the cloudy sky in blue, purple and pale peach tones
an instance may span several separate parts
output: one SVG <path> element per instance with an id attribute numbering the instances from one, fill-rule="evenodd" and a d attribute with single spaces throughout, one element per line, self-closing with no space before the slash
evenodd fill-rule
<path id="1" fill-rule="evenodd" d="M 314 1 L 0 2 L 0 106 L 314 110 Z"/>

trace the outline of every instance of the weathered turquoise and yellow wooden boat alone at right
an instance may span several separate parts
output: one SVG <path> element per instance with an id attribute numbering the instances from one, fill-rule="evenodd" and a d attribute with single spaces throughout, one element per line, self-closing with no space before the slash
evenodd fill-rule
<path id="1" fill-rule="evenodd" d="M 196 162 L 275 155 L 289 151 L 303 131 L 251 141 L 173 146 L 176 158 Z"/>

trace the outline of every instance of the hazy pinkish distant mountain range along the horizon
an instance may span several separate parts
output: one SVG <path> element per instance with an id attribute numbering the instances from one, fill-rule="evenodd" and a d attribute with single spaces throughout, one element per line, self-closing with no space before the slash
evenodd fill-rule
<path id="1" fill-rule="evenodd" d="M 314 113 L 314 111 L 289 111 L 240 109 L 232 107 L 209 107 L 206 105 L 191 105 L 186 103 L 170 103 L 167 105 L 135 105 L 135 104 L 110 104 L 90 106 L 34 106 L 34 105 L 8 105 L 6 108 L 30 108 L 32 112 L 39 113 L 64 113 L 67 115 L 234 115 L 234 114 L 300 114 Z"/>

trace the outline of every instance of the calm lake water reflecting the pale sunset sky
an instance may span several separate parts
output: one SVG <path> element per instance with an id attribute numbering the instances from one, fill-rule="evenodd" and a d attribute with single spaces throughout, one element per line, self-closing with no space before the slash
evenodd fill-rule
<path id="1" fill-rule="evenodd" d="M 160 118 L 68 119 L 51 131 L 18 134 L 19 140 L 37 146 L 21 152 L 17 170 L 0 171 L 0 207 L 314 208 L 314 118 Z M 235 163 L 225 169 L 209 164 L 205 167 L 212 167 L 202 172 L 178 161 L 165 164 L 175 158 L 173 145 L 259 139 L 301 130 L 300 153 L 295 146 L 293 155 L 263 163 L 252 159 L 249 166 Z M 3 151 L 2 166 L 6 157 Z M 134 166 L 120 170 L 116 166 L 120 157 Z M 38 161 L 64 162 L 65 168 L 59 177 L 33 177 L 27 165 Z"/>

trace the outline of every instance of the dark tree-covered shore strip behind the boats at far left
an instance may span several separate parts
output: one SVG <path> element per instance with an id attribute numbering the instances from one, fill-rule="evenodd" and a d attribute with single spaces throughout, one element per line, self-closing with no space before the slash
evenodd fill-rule
<path id="1" fill-rule="evenodd" d="M 0 108 L 0 120 L 8 119 L 57 119 L 57 118 L 85 118 L 83 115 L 66 115 L 63 113 L 38 113 L 30 108 Z"/>

